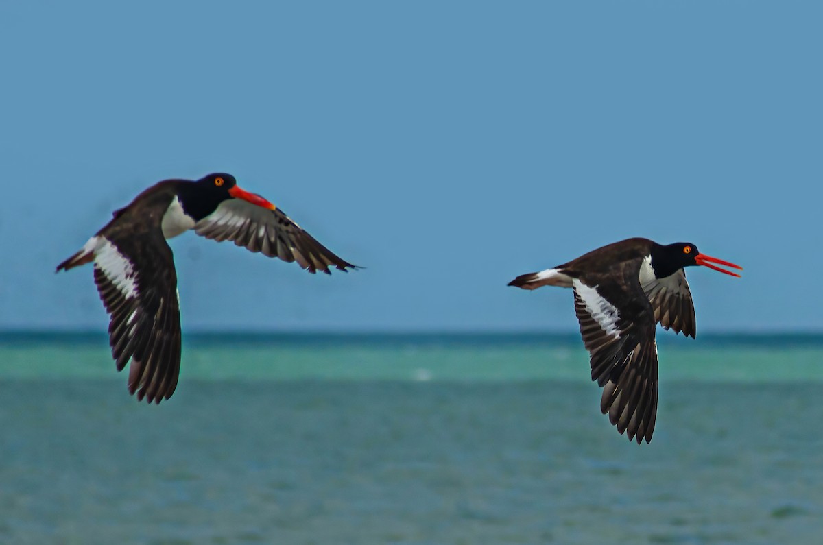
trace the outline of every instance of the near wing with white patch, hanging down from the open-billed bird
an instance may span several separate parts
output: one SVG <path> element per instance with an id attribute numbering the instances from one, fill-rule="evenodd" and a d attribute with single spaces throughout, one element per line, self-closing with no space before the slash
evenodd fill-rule
<path id="1" fill-rule="evenodd" d="M 653 311 L 638 281 L 598 280 L 602 282 L 589 286 L 575 278 L 573 287 L 592 380 L 603 388 L 600 409 L 629 440 L 649 443 L 658 408 Z"/>

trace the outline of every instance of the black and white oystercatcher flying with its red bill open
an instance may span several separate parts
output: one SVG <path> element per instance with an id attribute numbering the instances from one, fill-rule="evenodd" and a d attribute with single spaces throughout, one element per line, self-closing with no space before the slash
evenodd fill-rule
<path id="1" fill-rule="evenodd" d="M 700 254 L 688 242 L 658 245 L 627 239 L 595 249 L 569 263 L 523 274 L 509 286 L 570 287 L 580 333 L 591 358 L 592 380 L 603 388 L 600 409 L 629 440 L 652 440 L 658 410 L 658 347 L 655 324 L 695 337 L 695 306 L 683 268 L 742 267 Z"/>

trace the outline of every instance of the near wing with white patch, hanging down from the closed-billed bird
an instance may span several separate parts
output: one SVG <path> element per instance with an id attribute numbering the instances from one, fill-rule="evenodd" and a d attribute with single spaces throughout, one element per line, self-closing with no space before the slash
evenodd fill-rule
<path id="1" fill-rule="evenodd" d="M 156 226 L 100 231 L 95 283 L 111 315 L 109 343 L 117 369 L 129 360 L 128 391 L 160 403 L 180 371 L 180 310 L 171 249 Z"/>

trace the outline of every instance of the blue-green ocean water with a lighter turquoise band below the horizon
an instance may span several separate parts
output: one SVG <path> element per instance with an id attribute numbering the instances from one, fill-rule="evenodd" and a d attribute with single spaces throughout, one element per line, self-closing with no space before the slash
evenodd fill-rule
<path id="1" fill-rule="evenodd" d="M 3 333 L 0 543 L 823 543 L 823 336 L 658 339 L 636 445 L 576 335 Z"/>

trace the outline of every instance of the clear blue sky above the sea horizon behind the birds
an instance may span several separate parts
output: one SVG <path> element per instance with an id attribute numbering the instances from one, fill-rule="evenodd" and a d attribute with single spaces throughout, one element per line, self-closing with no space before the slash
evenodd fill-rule
<path id="1" fill-rule="evenodd" d="M 0 328 L 105 330 L 110 212 L 212 171 L 360 272 L 187 233 L 184 329 L 564 330 L 505 286 L 694 242 L 698 332 L 820 330 L 819 2 L 2 2 Z"/>

